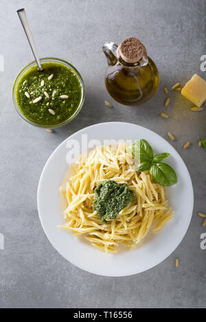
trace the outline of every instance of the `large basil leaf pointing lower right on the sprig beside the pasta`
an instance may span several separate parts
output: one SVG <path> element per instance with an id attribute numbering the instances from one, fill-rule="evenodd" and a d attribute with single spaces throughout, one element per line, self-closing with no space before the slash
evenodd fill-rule
<path id="1" fill-rule="evenodd" d="M 177 177 L 175 171 L 165 163 L 152 164 L 150 168 L 150 175 L 152 179 L 161 186 L 172 186 L 176 184 Z"/>

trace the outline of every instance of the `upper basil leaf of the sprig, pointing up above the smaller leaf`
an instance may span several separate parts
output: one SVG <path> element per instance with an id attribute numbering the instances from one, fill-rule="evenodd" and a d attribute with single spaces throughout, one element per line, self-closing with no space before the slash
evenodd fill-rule
<path id="1" fill-rule="evenodd" d="M 154 158 L 154 153 L 152 147 L 149 143 L 141 138 L 141 140 L 136 140 L 132 145 L 132 153 L 135 159 L 139 160 L 140 163 L 150 162 Z"/>

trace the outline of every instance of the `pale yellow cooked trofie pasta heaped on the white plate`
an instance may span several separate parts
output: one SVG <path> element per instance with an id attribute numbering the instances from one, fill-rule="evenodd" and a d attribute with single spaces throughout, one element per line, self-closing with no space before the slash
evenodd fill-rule
<path id="1" fill-rule="evenodd" d="M 59 227 L 70 230 L 76 236 L 84 235 L 91 245 L 101 251 L 113 253 L 121 243 L 133 247 L 148 234 L 150 228 L 158 232 L 170 221 L 173 212 L 165 200 L 163 186 L 152 181 L 149 171 L 135 171 L 135 159 L 126 144 L 96 147 L 87 156 L 80 156 L 70 168 L 72 173 L 65 185 L 60 187 L 67 208 L 66 223 Z M 121 203 L 126 206 L 118 214 L 105 215 L 102 219 L 95 210 L 98 209 L 95 206 L 96 188 L 100 190 L 100 184 L 108 180 L 122 184 L 116 185 L 120 198 L 121 193 L 126 192 L 130 194 L 130 199 L 127 204 Z M 102 186 L 106 187 L 105 184 Z M 116 199 L 111 200 L 112 194 L 107 194 L 110 198 L 107 207 L 117 203 L 118 195 L 113 195 Z"/>

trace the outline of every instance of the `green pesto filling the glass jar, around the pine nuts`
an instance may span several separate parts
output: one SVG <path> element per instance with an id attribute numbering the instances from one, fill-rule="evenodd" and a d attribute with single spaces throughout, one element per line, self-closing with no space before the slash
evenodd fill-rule
<path id="1" fill-rule="evenodd" d="M 33 66 L 22 75 L 16 87 L 16 102 L 30 121 L 39 125 L 57 125 L 76 112 L 82 88 L 77 75 L 69 67 L 56 62 L 46 62 L 42 66 L 43 71 L 38 71 L 37 66 Z M 54 76 L 49 80 L 48 77 L 52 74 Z M 47 92 L 49 98 L 44 92 Z M 61 98 L 61 95 L 67 95 L 68 98 Z M 42 97 L 41 100 L 34 103 L 38 97 Z M 55 114 L 51 114 L 49 110 Z"/>

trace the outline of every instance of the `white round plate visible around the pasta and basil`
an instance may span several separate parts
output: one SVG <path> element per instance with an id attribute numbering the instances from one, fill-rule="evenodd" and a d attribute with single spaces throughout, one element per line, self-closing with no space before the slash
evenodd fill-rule
<path id="1" fill-rule="evenodd" d="M 168 152 L 167 163 L 178 176 L 178 184 L 166 188 L 167 197 L 174 210 L 172 220 L 159 234 L 149 234 L 144 243 L 132 250 L 107 254 L 95 249 L 71 232 L 60 230 L 57 226 L 65 223 L 60 205 L 59 186 L 68 171 L 66 155 L 68 141 L 78 140 L 81 147 L 82 134 L 87 134 L 88 141 L 137 140 L 145 138 L 155 153 Z M 66 147 L 67 145 L 67 147 Z M 194 196 L 190 174 L 185 163 L 164 138 L 139 125 L 122 122 L 108 122 L 91 125 L 69 136 L 47 160 L 38 184 L 38 214 L 47 238 L 54 248 L 69 262 L 98 275 L 126 276 L 140 273 L 155 267 L 167 258 L 181 243 L 187 232 L 192 217 Z"/>

